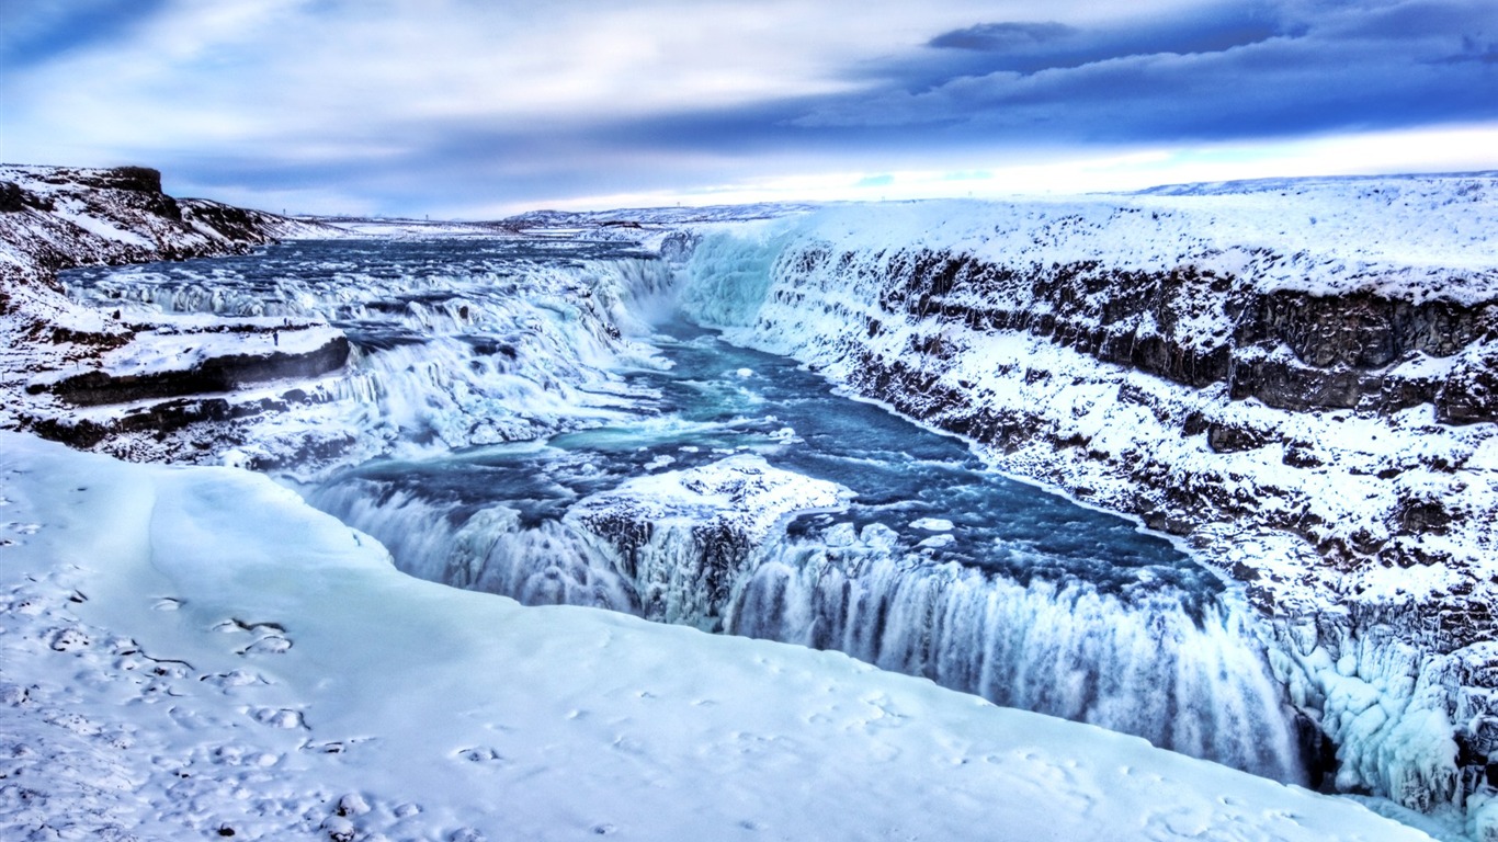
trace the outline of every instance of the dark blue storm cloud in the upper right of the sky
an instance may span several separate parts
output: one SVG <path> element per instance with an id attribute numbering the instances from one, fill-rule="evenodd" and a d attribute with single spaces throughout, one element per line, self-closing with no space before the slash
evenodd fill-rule
<path id="1" fill-rule="evenodd" d="M 1480 121 L 1498 118 L 1495 39 L 1491 0 L 1224 6 L 1100 30 L 978 24 L 795 124 L 1149 142 Z"/>

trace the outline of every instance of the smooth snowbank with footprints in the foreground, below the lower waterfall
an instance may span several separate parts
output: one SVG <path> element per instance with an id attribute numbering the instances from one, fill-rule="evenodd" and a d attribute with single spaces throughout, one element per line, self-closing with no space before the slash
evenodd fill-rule
<path id="1" fill-rule="evenodd" d="M 6 839 L 1428 839 L 836 653 L 422 583 L 262 476 L 0 445 Z"/>

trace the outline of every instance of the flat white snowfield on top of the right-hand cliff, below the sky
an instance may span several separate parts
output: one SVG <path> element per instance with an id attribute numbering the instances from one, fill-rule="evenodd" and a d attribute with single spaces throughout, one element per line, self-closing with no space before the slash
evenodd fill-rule
<path id="1" fill-rule="evenodd" d="M 1495 229 L 1495 178 L 1474 174 L 1312 180 L 1243 193 L 831 205 L 756 223 L 752 235 L 782 243 L 794 235 L 837 253 L 927 249 L 1022 267 L 1192 264 L 1264 291 L 1474 304 L 1498 294 Z"/>

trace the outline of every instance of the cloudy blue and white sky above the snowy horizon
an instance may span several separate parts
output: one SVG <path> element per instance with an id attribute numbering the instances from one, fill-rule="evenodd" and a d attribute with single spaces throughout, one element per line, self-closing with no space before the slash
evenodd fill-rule
<path id="1" fill-rule="evenodd" d="M 291 213 L 1498 169 L 1498 0 L 0 0 L 0 160 Z"/>

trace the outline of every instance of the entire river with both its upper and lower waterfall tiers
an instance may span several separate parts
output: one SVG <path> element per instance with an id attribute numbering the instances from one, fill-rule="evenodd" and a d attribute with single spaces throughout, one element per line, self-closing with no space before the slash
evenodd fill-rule
<path id="1" fill-rule="evenodd" d="M 246 259 L 240 274 L 232 259 L 213 277 L 190 267 L 79 273 L 73 294 L 342 327 L 355 354 L 327 385 L 330 403 L 349 408 L 358 436 L 382 439 L 386 458 L 304 494 L 413 575 L 529 605 L 837 649 L 999 704 L 1303 779 L 1284 691 L 1210 574 L 1161 541 L 1116 547 L 1143 541 L 1126 523 L 986 485 L 987 473 L 959 464 L 971 461 L 960 445 L 830 397 L 792 363 L 703 331 L 641 342 L 646 322 L 676 306 L 679 279 L 661 261 L 617 246 L 550 256 L 532 246 L 297 244 Z M 840 346 L 815 346 L 837 336 L 818 333 L 818 319 L 861 319 L 857 298 L 869 291 L 825 283 L 830 316 L 776 298 L 780 246 L 773 232 L 749 246 L 704 240 L 683 309 L 765 349 L 842 358 Z M 761 322 L 770 309 L 797 334 Z M 849 412 L 861 415 L 839 421 Z M 656 427 L 641 431 L 647 421 Z M 503 443 L 605 424 L 613 431 L 586 446 Z M 490 449 L 463 449 L 475 445 Z M 599 526 L 578 514 L 631 476 L 746 449 L 852 488 L 854 500 L 836 515 L 818 503 L 825 521 L 806 515 L 767 535 L 628 511 Z M 1065 550 L 1028 538 L 1001 551 L 998 521 L 1019 505 L 1058 509 L 1035 515 L 1037 535 L 1098 538 Z M 960 520 L 959 509 L 969 515 L 951 542 L 912 535 L 918 514 Z"/>

